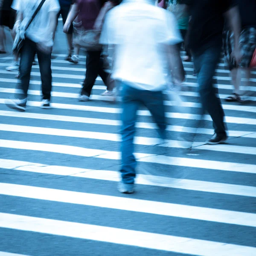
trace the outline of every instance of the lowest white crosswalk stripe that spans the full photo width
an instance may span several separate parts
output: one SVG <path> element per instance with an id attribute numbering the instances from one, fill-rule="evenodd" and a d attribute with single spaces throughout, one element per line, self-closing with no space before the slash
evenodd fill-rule
<path id="1" fill-rule="evenodd" d="M 125 244 L 198 256 L 245 256 L 256 254 L 255 247 L 8 213 L 0 213 L 0 226 L 17 230 L 47 233 L 55 236 Z"/>

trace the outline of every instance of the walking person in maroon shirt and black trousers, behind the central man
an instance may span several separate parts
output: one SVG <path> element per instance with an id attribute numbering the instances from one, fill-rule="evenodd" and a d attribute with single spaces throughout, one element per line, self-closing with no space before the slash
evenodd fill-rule
<path id="1" fill-rule="evenodd" d="M 81 20 L 81 26 L 84 31 L 95 29 L 96 21 L 99 15 L 100 17 L 105 17 L 106 9 L 103 9 L 105 3 L 105 1 L 101 0 L 75 0 L 75 3 L 73 4 L 67 17 L 67 21 L 64 24 L 63 31 L 65 33 L 68 32 L 77 15 L 79 15 L 79 20 Z M 98 29 L 101 29 L 100 25 Z M 86 74 L 83 88 L 79 95 L 79 101 L 85 102 L 90 99 L 90 94 L 98 75 L 102 78 L 104 84 L 106 86 L 108 85 L 109 73 L 104 70 L 104 61 L 101 58 L 101 55 L 102 49 L 87 51 Z M 108 90 L 108 86 L 104 95 L 113 96 L 113 92 Z"/>

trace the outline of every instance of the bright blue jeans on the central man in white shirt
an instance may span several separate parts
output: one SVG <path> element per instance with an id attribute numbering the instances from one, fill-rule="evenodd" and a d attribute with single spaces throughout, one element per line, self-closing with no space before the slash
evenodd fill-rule
<path id="1" fill-rule="evenodd" d="M 163 105 L 162 91 L 148 91 L 138 90 L 128 84 L 120 83 L 122 87 L 122 143 L 121 143 L 121 156 L 122 166 L 121 175 L 122 182 L 126 184 L 133 184 L 136 176 L 136 160 L 134 157 L 134 134 L 135 123 L 137 118 L 137 110 L 140 105 L 145 105 L 151 112 L 154 121 L 158 126 L 158 133 L 162 139 L 165 139 L 166 130 L 166 116 L 165 106 Z"/>

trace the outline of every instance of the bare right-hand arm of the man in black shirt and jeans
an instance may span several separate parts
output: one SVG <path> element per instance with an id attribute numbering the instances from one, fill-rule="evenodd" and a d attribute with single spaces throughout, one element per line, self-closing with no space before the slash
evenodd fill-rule
<path id="1" fill-rule="evenodd" d="M 241 20 L 239 15 L 239 9 L 237 6 L 232 7 L 227 12 L 225 12 L 225 17 L 228 20 L 230 29 L 234 32 L 235 47 L 233 55 L 236 61 L 240 60 L 240 49 L 239 49 L 239 38 L 241 35 Z"/>

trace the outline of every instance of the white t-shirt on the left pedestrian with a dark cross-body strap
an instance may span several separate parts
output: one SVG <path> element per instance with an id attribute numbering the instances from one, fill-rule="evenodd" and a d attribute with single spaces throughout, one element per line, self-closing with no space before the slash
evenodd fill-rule
<path id="1" fill-rule="evenodd" d="M 24 28 L 29 22 L 36 8 L 41 3 L 41 0 L 14 0 L 12 9 L 17 12 L 22 12 L 23 20 L 20 24 Z M 52 46 L 52 36 L 49 32 L 50 15 L 49 12 L 59 12 L 60 5 L 58 0 L 46 0 L 35 16 L 29 28 L 25 32 L 25 36 L 35 43 L 44 41 L 47 46 Z"/>

